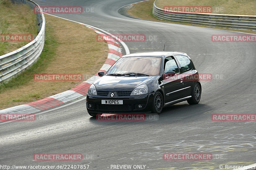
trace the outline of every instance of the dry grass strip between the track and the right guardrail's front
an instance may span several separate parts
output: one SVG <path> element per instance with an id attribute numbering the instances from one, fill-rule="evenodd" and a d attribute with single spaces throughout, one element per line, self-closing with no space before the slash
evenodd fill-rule
<path id="1" fill-rule="evenodd" d="M 236 29 L 230 29 L 230 28 L 223 28 L 223 27 L 219 27 L 219 26 L 213 27 L 213 26 L 204 26 L 201 24 L 191 24 L 191 23 L 186 23 L 186 22 L 174 22 L 174 21 L 168 21 L 168 20 L 161 20 L 161 19 L 156 18 L 152 14 L 154 1 L 155 0 L 149 0 L 149 1 L 134 4 L 132 8 L 127 10 L 127 13 L 131 16 L 141 18 L 141 19 L 151 20 L 151 21 L 168 22 L 168 23 L 174 23 L 174 24 L 184 24 L 184 25 L 189 25 L 189 26 L 201 26 L 201 27 L 206 27 L 206 28 L 217 28 L 217 29 L 223 29 L 223 30 L 229 30 L 229 31 L 238 31 L 238 32 L 244 32 L 244 33 L 256 34 L 256 31 L 250 31 L 250 30 L 236 30 Z M 196 4 L 194 6 L 196 6 Z"/>

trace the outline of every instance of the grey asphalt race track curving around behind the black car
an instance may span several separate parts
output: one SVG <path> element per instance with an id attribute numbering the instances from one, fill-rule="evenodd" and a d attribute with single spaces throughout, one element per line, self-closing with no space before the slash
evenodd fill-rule
<path id="1" fill-rule="evenodd" d="M 111 34 L 145 34 L 144 42 L 126 42 L 131 53 L 162 51 L 164 44 L 165 51 L 187 53 L 199 73 L 212 74 L 212 80 L 201 81 L 200 103 L 192 106 L 181 102 L 166 107 L 158 121 L 109 122 L 91 118 L 85 100 L 77 100 L 44 111 L 36 121 L 1 122 L 1 165 L 80 164 L 98 170 L 111 169 L 111 165 L 145 165 L 147 170 L 210 170 L 219 169 L 219 165 L 256 163 L 256 122 L 211 120 L 214 113 L 255 114 L 255 42 L 212 42 L 212 34 L 243 33 L 146 21 L 118 13 L 122 6 L 138 1 L 35 2 L 41 6 L 93 8 L 93 12 L 56 16 L 96 26 Z M 209 161 L 163 160 L 164 153 L 181 152 L 208 152 L 213 158 Z M 34 161 L 35 153 L 82 153 L 84 158 L 82 161 Z"/>

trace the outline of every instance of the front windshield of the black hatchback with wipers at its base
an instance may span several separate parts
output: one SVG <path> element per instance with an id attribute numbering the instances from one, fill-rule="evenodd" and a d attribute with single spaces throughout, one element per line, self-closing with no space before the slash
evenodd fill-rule
<path id="1" fill-rule="evenodd" d="M 156 76 L 160 72 L 160 63 L 160 57 L 121 57 L 106 75 L 137 73 L 142 76 Z"/>

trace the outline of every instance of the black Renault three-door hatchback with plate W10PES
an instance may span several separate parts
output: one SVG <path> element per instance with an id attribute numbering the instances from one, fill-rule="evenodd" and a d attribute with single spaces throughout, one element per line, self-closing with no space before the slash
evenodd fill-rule
<path id="1" fill-rule="evenodd" d="M 86 107 L 98 113 L 158 113 L 163 107 L 201 98 L 199 74 L 186 53 L 141 52 L 124 55 L 89 88 Z"/>

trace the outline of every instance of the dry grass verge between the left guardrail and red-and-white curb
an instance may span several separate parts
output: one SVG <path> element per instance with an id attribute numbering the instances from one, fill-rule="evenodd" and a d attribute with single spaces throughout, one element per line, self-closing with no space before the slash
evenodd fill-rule
<path id="1" fill-rule="evenodd" d="M 45 15 L 45 44 L 38 61 L 6 84 L 0 85 L 0 109 L 25 104 L 69 90 L 82 81 L 34 81 L 36 73 L 97 73 L 108 56 L 106 42 L 96 41 L 93 30 Z"/>

